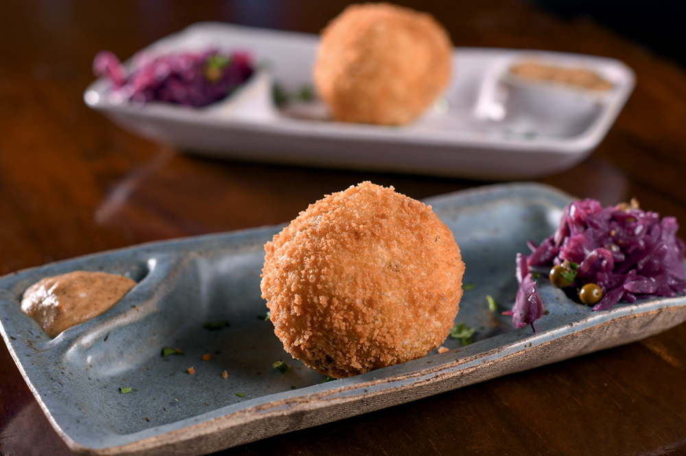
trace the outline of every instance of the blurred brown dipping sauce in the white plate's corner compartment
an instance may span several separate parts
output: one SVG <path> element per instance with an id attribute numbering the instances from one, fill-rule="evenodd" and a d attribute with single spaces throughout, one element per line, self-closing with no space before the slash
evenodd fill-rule
<path id="1" fill-rule="evenodd" d="M 613 88 L 612 82 L 595 71 L 583 68 L 554 67 L 536 62 L 523 62 L 510 67 L 510 73 L 526 79 L 587 88 L 591 91 L 608 91 Z"/>

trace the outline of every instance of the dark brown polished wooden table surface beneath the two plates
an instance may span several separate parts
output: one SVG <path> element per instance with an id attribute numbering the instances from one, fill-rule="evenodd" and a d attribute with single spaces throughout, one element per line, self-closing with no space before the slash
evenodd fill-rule
<path id="1" fill-rule="evenodd" d="M 316 33 L 345 1 L 19 1 L 0 8 L 0 274 L 145 241 L 276 224 L 362 180 L 423 198 L 488 182 L 198 158 L 82 101 L 95 53 L 128 58 L 198 21 Z M 459 46 L 609 56 L 637 87 L 600 147 L 540 182 L 686 220 L 686 71 L 592 21 L 518 0 L 403 2 Z M 0 315 L 1 317 L 1 315 Z M 686 324 L 223 455 L 686 453 Z M 0 453 L 70 455 L 0 343 Z"/>

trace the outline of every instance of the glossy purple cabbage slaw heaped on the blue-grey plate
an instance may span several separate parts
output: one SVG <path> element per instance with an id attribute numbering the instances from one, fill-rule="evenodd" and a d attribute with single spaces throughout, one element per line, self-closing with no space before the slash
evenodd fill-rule
<path id="1" fill-rule="evenodd" d="M 684 242 L 676 236 L 674 217 L 660 219 L 637 204 L 608 206 L 592 199 L 575 201 L 563 213 L 554 235 L 540 245 L 528 243 L 529 255 L 517 254 L 519 289 L 512 315 L 517 328 L 543 315 L 532 268 L 552 267 L 568 261 L 576 277 L 570 287 L 595 283 L 602 298 L 594 311 L 611 309 L 617 302 L 635 302 L 650 296 L 677 296 L 686 291 Z"/>

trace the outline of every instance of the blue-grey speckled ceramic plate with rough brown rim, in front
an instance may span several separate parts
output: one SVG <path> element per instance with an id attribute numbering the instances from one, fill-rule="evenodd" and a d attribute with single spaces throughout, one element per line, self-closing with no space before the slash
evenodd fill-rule
<path id="1" fill-rule="evenodd" d="M 570 200 L 540 184 L 427 200 L 462 249 L 464 281 L 473 286 L 456 322 L 476 328 L 475 343 L 447 339 L 448 352 L 348 379 L 324 382 L 291 359 L 263 318 L 263 244 L 279 227 L 151 243 L 4 276 L 0 331 L 73 451 L 201 455 L 626 344 L 686 320 L 683 297 L 594 313 L 545 285 L 539 291 L 549 314 L 536 333 L 501 315 L 517 289 L 514 255 L 527 251 L 528 239 L 547 237 Z M 40 278 L 75 269 L 124 274 L 138 285 L 106 313 L 50 339 L 21 313 L 21 295 Z M 487 294 L 499 303 L 495 313 Z M 204 328 L 227 320 L 230 326 Z M 165 346 L 185 355 L 162 357 Z M 292 369 L 272 368 L 280 359 Z"/>

